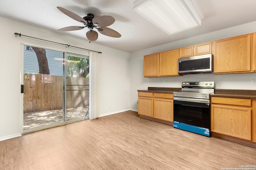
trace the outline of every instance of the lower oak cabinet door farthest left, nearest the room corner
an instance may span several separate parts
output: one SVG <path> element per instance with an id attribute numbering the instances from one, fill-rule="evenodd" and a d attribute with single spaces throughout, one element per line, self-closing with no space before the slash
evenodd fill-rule
<path id="1" fill-rule="evenodd" d="M 138 97 L 138 113 L 153 117 L 153 98 Z"/>

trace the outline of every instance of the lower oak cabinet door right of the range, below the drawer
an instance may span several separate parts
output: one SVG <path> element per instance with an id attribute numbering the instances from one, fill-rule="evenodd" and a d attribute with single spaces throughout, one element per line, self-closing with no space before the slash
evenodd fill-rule
<path id="1" fill-rule="evenodd" d="M 211 131 L 251 140 L 251 109 L 212 105 Z"/>

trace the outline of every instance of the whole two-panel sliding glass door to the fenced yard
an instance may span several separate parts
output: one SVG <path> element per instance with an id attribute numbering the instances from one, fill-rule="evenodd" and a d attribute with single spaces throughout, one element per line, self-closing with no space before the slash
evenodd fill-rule
<path id="1" fill-rule="evenodd" d="M 28 45 L 23 51 L 23 131 L 86 119 L 89 57 Z"/>

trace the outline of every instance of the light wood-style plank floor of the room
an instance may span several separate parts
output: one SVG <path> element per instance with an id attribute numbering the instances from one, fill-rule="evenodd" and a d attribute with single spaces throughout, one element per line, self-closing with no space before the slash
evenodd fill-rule
<path id="1" fill-rule="evenodd" d="M 125 111 L 0 142 L 0 169 L 221 170 L 256 164 L 256 148 Z"/>

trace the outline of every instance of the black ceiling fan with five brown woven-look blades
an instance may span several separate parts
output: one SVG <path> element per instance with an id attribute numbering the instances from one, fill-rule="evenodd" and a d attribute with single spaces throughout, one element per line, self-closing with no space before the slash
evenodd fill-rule
<path id="1" fill-rule="evenodd" d="M 85 26 L 69 26 L 58 29 L 58 31 L 75 31 L 84 29 L 85 27 L 88 27 L 89 31 L 86 32 L 86 37 L 90 41 L 96 41 L 98 39 L 98 33 L 94 31 L 93 29 L 98 29 L 99 33 L 102 33 L 103 35 L 107 35 L 109 37 L 121 37 L 121 34 L 115 31 L 114 29 L 108 28 L 107 26 L 112 25 L 115 22 L 115 19 L 112 16 L 97 16 L 94 17 L 93 14 L 87 14 L 84 18 L 74 14 L 73 12 L 70 12 L 69 10 L 66 10 L 65 8 L 57 6 L 57 8 L 69 16 L 70 18 L 79 21 L 83 23 Z"/>

